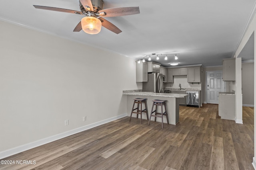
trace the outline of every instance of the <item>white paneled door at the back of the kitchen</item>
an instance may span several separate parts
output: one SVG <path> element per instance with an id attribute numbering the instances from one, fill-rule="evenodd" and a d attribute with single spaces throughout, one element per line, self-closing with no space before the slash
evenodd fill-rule
<path id="1" fill-rule="evenodd" d="M 219 92 L 225 92 L 225 83 L 222 80 L 222 71 L 207 72 L 207 103 L 218 104 Z"/>

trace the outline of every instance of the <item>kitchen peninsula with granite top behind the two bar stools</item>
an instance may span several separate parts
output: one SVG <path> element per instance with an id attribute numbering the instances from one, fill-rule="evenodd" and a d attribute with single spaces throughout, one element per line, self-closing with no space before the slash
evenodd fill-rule
<path id="1" fill-rule="evenodd" d="M 166 100 L 166 107 L 168 111 L 169 123 L 176 125 L 179 122 L 179 98 L 188 96 L 187 94 L 172 94 L 172 93 L 154 93 L 154 92 L 142 92 L 142 90 L 124 90 L 123 95 L 127 95 L 127 114 L 130 116 L 132 111 L 132 105 L 135 98 L 147 98 L 148 115 L 152 109 L 152 100 Z M 160 109 L 160 107 L 158 107 Z M 158 110 L 160 112 L 160 110 Z M 135 117 L 136 115 L 133 114 Z M 142 115 L 142 119 L 147 119 L 146 115 Z M 154 117 L 151 118 L 153 120 Z M 161 122 L 161 119 L 157 117 L 156 121 Z M 164 123 L 167 123 L 164 119 Z"/>

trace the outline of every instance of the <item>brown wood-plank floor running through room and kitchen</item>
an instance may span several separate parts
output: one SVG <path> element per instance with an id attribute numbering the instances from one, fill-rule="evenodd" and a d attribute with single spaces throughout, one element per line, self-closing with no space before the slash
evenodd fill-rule
<path id="1" fill-rule="evenodd" d="M 3 159 L 36 164 L 0 169 L 253 170 L 253 107 L 243 107 L 243 123 L 220 119 L 215 104 L 180 106 L 177 125 L 124 117 Z"/>

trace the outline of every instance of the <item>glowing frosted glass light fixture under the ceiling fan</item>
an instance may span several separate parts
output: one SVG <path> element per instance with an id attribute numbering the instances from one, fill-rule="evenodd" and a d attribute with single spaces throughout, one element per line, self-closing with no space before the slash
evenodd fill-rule
<path id="1" fill-rule="evenodd" d="M 101 30 L 101 21 L 92 16 L 87 16 L 81 20 L 82 29 L 88 34 L 97 34 Z"/>

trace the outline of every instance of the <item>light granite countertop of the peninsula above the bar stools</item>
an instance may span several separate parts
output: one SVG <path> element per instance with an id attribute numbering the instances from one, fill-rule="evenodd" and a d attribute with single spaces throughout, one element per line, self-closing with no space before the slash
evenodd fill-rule
<path id="1" fill-rule="evenodd" d="M 141 92 L 134 90 L 124 90 L 124 95 L 134 96 L 154 96 L 154 97 L 166 97 L 166 98 L 184 98 L 187 94 L 172 94 L 172 93 L 154 93 L 154 92 Z"/>

